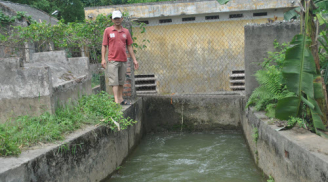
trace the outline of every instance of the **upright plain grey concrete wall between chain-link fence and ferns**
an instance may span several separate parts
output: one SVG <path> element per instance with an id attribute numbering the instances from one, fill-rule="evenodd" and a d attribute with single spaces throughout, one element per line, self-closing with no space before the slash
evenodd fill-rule
<path id="1" fill-rule="evenodd" d="M 261 68 L 259 64 L 267 57 L 267 52 L 275 51 L 273 41 L 290 42 L 299 32 L 299 22 L 245 26 L 246 98 L 258 87 L 254 74 Z"/>

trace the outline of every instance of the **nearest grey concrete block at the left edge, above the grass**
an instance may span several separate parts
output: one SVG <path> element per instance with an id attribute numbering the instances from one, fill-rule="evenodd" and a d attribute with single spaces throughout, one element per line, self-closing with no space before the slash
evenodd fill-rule
<path id="1" fill-rule="evenodd" d="M 21 58 L 0 60 L 0 123 L 20 115 L 52 112 L 49 67 L 23 67 Z"/>

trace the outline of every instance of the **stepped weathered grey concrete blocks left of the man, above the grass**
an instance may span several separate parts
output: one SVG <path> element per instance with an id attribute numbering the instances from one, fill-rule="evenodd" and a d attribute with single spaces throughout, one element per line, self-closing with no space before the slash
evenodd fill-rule
<path id="1" fill-rule="evenodd" d="M 89 59 L 66 58 L 65 51 L 0 60 L 0 122 L 20 115 L 54 113 L 58 104 L 91 94 Z"/>

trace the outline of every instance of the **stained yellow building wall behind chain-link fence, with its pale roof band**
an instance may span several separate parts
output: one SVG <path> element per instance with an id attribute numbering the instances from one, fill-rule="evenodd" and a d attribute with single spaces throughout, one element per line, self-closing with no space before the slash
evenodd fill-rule
<path id="1" fill-rule="evenodd" d="M 230 91 L 232 71 L 245 69 L 244 26 L 282 20 L 294 6 L 290 0 L 188 0 L 90 7 L 85 14 L 94 19 L 119 9 L 145 22 L 145 33 L 133 29 L 136 42 L 147 46 L 137 50 L 136 74 L 154 74 L 157 93 L 186 94 Z"/>

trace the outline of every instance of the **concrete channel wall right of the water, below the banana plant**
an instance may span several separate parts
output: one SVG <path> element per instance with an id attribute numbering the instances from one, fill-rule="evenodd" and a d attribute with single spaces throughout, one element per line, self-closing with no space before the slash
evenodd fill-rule
<path id="1" fill-rule="evenodd" d="M 258 129 L 257 144 L 252 136 L 254 128 Z M 328 140 L 300 128 L 275 129 L 264 112 L 249 109 L 244 117 L 246 139 L 263 172 L 276 182 L 327 182 Z"/>

